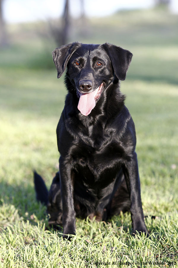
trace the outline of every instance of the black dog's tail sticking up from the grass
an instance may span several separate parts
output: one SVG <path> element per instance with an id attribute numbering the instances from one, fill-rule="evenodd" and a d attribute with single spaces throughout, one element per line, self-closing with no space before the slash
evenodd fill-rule
<path id="1" fill-rule="evenodd" d="M 44 180 L 36 171 L 34 171 L 34 184 L 37 201 L 47 206 L 48 190 L 46 188 Z"/>

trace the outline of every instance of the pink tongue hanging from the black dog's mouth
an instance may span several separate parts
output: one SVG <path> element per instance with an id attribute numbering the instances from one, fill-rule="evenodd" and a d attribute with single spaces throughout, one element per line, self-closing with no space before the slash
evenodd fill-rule
<path id="1" fill-rule="evenodd" d="M 91 113 L 91 110 L 95 107 L 95 91 L 91 93 L 80 93 L 80 99 L 78 104 L 79 111 L 87 116 Z"/>

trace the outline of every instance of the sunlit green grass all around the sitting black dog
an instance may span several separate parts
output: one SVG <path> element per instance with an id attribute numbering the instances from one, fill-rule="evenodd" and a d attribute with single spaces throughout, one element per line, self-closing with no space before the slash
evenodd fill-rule
<path id="1" fill-rule="evenodd" d="M 0 267 L 178 266 L 177 25 L 178 18 L 163 10 L 122 12 L 91 20 L 93 39 L 81 37 L 78 28 L 71 37 L 109 41 L 134 54 L 121 91 L 136 126 L 150 232 L 150 238 L 132 237 L 129 213 L 110 222 L 77 219 L 71 242 L 46 230 L 47 215 L 35 200 L 32 174 L 36 169 L 49 188 L 58 169 L 55 128 L 66 90 L 47 53 L 55 45 L 48 43 L 44 50 L 30 32 L 33 25 L 10 28 L 14 45 L 0 51 Z"/>

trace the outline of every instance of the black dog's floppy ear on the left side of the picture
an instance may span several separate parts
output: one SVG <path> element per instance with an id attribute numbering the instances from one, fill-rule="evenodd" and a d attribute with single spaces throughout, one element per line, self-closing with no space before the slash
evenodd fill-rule
<path id="1" fill-rule="evenodd" d="M 75 42 L 65 46 L 57 47 L 55 50 L 53 50 L 52 52 L 53 61 L 55 63 L 58 72 L 58 78 L 61 77 L 61 75 L 65 72 L 67 63 L 71 55 L 80 46 L 81 46 L 80 43 Z"/>

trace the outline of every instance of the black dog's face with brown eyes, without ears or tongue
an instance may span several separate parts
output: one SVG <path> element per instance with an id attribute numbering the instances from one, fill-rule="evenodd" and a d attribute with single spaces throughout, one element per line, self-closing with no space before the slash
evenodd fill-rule
<path id="1" fill-rule="evenodd" d="M 68 62 L 67 76 L 75 83 L 77 93 L 89 94 L 96 91 L 97 96 L 112 76 L 112 65 L 107 52 L 98 45 L 82 45 Z M 95 97 L 97 100 L 97 97 Z"/>

